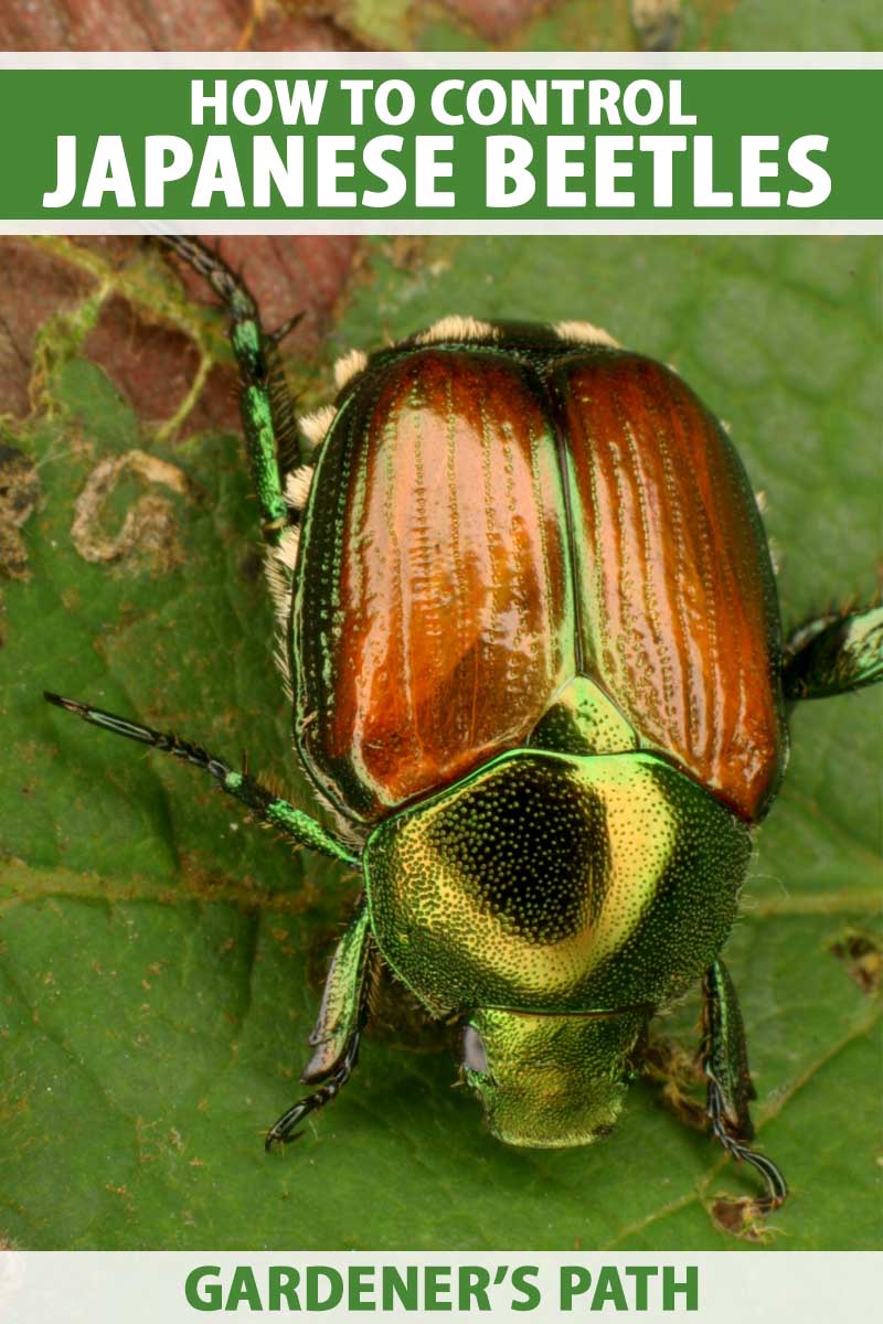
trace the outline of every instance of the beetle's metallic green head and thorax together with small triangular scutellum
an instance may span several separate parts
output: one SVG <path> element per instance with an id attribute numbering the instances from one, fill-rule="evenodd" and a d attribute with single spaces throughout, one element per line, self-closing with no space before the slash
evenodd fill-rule
<path id="1" fill-rule="evenodd" d="M 627 747 L 596 700 L 569 694 L 549 728 Z M 363 861 L 383 957 L 433 1014 L 467 1017 L 491 1131 L 559 1148 L 613 1125 L 654 1010 L 729 932 L 749 850 L 655 755 L 537 748 L 387 820 Z"/>

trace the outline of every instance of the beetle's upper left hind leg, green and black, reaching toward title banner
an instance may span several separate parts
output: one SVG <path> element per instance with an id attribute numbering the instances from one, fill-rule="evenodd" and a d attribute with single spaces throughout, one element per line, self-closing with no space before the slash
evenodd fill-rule
<path id="1" fill-rule="evenodd" d="M 204 277 L 226 305 L 230 343 L 242 383 L 242 424 L 252 482 L 261 507 L 261 528 L 265 540 L 275 545 L 293 522 L 283 491 L 285 473 L 299 462 L 294 413 L 277 343 L 297 319 L 275 335 L 267 334 L 254 298 L 217 253 L 199 240 L 177 234 L 162 236 L 162 242 Z"/>

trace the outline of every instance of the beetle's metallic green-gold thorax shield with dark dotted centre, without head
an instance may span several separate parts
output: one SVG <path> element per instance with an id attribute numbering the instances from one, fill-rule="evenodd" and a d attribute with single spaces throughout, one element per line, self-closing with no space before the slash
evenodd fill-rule
<path id="1" fill-rule="evenodd" d="M 502 755 L 364 851 L 385 960 L 436 1014 L 657 1006 L 723 945 L 745 826 L 649 753 Z"/>

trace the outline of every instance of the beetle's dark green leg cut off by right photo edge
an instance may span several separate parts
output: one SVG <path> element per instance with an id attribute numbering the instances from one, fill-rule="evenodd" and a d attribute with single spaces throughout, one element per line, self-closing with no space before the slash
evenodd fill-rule
<path id="1" fill-rule="evenodd" d="M 883 606 L 821 616 L 796 630 L 785 647 L 786 699 L 825 699 L 883 681 Z"/>

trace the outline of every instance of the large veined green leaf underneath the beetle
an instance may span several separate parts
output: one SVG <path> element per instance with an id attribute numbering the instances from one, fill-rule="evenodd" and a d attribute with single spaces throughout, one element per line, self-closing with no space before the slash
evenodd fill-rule
<path id="1" fill-rule="evenodd" d="M 377 241 L 315 376 L 330 385 L 334 352 L 447 311 L 608 327 L 674 363 L 731 424 L 767 493 L 793 624 L 874 585 L 876 249 L 860 238 Z M 172 298 L 158 262 L 139 270 L 142 293 L 164 285 Z M 207 324 L 183 306 L 177 318 L 197 336 Z M 57 332 L 41 346 L 54 364 L 46 408 L 7 429 L 41 483 L 20 531 L 30 577 L 5 587 L 7 1237 L 105 1249 L 743 1245 L 711 1206 L 719 1192 L 752 1194 L 751 1174 L 666 1112 L 651 1086 L 594 1148 L 508 1151 L 450 1088 L 443 1045 L 408 1016 L 367 1041 L 352 1084 L 298 1145 L 265 1156 L 263 1128 L 301 1088 L 353 880 L 241 822 L 191 769 L 42 703 L 48 687 L 229 759 L 245 747 L 252 768 L 308 802 L 270 661 L 241 444 L 214 432 L 156 441 L 101 369 L 70 344 L 53 348 Z M 177 466 L 180 491 L 120 470 L 114 500 L 75 543 L 97 467 L 134 449 Z M 146 494 L 165 503 L 152 540 L 142 515 L 146 544 L 86 560 L 89 538 L 113 544 Z M 793 1186 L 772 1219 L 786 1233 L 774 1245 L 789 1249 L 879 1238 L 878 1002 L 850 977 L 880 882 L 879 716 L 875 691 L 796 714 L 786 784 L 727 948 L 760 1143 Z M 661 1031 L 691 1046 L 695 1012 Z"/>

